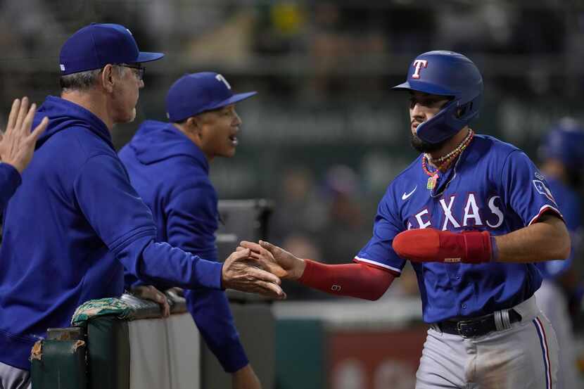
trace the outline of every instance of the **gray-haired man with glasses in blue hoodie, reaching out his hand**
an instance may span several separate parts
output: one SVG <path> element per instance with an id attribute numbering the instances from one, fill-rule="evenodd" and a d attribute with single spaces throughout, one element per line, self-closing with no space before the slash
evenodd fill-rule
<path id="1" fill-rule="evenodd" d="M 129 182 L 110 132 L 136 116 L 141 63 L 127 28 L 92 24 L 61 48 L 61 97 L 11 198 L 0 248 L 0 387 L 30 388 L 32 345 L 48 327 L 68 326 L 75 308 L 124 291 L 124 268 L 148 283 L 234 288 L 284 297 L 277 276 L 249 252 L 224 264 L 156 241 L 152 214 Z M 111 251 L 113 255 L 108 256 Z"/>

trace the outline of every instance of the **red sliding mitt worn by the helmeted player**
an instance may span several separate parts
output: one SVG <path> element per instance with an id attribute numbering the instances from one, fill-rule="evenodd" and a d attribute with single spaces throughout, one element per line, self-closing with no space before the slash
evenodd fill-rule
<path id="1" fill-rule="evenodd" d="M 487 231 L 410 229 L 393 238 L 393 250 L 413 262 L 483 263 L 493 256 Z"/>

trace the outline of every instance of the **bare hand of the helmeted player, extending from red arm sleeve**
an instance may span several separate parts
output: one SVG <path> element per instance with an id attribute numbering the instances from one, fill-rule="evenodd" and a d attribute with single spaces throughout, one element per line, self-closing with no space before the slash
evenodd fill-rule
<path id="1" fill-rule="evenodd" d="M 304 273 L 304 260 L 277 245 L 266 241 L 260 241 L 260 243 L 242 241 L 239 244 L 244 248 L 249 248 L 251 255 L 257 258 L 265 269 L 282 279 L 297 280 Z"/>

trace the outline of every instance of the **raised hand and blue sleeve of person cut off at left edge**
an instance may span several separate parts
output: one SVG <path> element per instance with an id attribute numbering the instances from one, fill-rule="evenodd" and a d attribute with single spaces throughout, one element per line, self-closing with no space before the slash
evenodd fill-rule
<path id="1" fill-rule="evenodd" d="M 31 133 L 32 117 L 37 106 L 28 107 L 28 98 L 16 98 L 12 103 L 6 132 L 0 134 L 0 214 L 20 185 L 20 174 L 34 153 L 34 144 L 44 131 L 49 119 L 43 119 Z"/>

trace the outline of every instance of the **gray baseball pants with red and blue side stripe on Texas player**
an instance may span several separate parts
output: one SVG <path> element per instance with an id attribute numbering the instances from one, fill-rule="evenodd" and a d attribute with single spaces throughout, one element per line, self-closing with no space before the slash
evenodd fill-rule
<path id="1" fill-rule="evenodd" d="M 557 389 L 558 343 L 535 297 L 521 321 L 476 338 L 428 330 L 416 389 Z"/>

